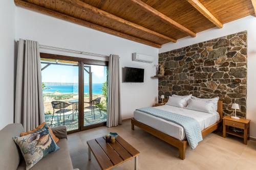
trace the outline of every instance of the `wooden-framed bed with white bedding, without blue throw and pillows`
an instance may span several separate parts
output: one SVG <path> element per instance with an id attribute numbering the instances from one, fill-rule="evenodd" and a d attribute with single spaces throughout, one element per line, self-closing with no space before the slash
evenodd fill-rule
<path id="1" fill-rule="evenodd" d="M 222 101 L 218 101 L 218 109 L 216 114 L 209 114 L 194 110 L 188 110 L 185 108 L 179 108 L 169 105 L 158 106 L 157 109 L 170 111 L 175 113 L 188 115 L 193 117 L 199 122 L 202 136 L 214 132 L 218 129 L 219 123 L 222 122 L 223 107 Z M 173 145 L 179 149 L 179 157 L 185 159 L 185 150 L 188 142 L 185 137 L 184 129 L 178 124 L 169 122 L 162 118 L 146 114 L 141 111 L 134 111 L 134 118 L 131 119 L 132 130 L 134 126 L 137 126 L 146 132 L 164 140 L 165 142 Z"/>

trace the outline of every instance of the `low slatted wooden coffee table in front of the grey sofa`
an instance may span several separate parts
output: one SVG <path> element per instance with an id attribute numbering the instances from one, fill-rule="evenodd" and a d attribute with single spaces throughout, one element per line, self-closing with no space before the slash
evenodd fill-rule
<path id="1" fill-rule="evenodd" d="M 115 143 L 106 143 L 105 137 L 88 140 L 88 156 L 91 152 L 99 163 L 101 169 L 111 169 L 127 160 L 135 159 L 135 169 L 138 169 L 138 156 L 140 154 L 131 144 L 118 136 Z"/>

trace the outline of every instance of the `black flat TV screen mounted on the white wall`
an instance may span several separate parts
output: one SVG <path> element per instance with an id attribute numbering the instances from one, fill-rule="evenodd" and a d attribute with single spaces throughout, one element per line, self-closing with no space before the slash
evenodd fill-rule
<path id="1" fill-rule="evenodd" d="M 144 69 L 124 67 L 124 82 L 144 82 Z"/>

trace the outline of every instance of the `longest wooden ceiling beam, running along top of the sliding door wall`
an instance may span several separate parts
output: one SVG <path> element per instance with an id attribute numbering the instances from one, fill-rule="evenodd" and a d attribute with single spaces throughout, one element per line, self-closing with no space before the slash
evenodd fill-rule
<path id="1" fill-rule="evenodd" d="M 88 27 L 88 28 L 91 28 L 91 29 L 94 29 L 94 30 L 98 30 L 98 31 L 101 31 L 101 32 L 104 32 L 104 33 L 108 33 L 108 34 L 115 35 L 115 36 L 118 36 L 118 37 L 121 37 L 121 38 L 129 39 L 129 40 L 132 40 L 132 41 L 136 41 L 136 42 L 139 42 L 139 43 L 142 43 L 142 44 L 150 45 L 150 46 L 153 46 L 153 47 L 161 48 L 160 44 L 157 44 L 157 43 L 154 43 L 154 42 L 151 42 L 151 41 L 147 41 L 147 40 L 144 40 L 144 39 L 141 39 L 141 38 L 137 38 L 137 37 L 134 37 L 134 36 L 131 36 L 131 35 L 127 35 L 127 34 L 124 34 L 124 33 L 121 33 L 121 32 L 115 31 L 115 30 L 111 30 L 111 29 L 96 25 L 94 23 L 91 23 L 91 22 L 88 22 L 88 21 L 85 21 L 85 20 L 81 20 L 81 19 L 69 16 L 69 15 L 66 15 L 66 14 L 62 14 L 62 13 L 59 13 L 59 12 L 56 12 L 56 11 L 53 11 L 53 10 L 50 10 L 50 9 L 47 9 L 47 8 L 44 8 L 44 7 L 40 7 L 40 6 L 25 2 L 25 1 L 22 1 L 22 0 L 14 0 L 14 3 L 17 6 L 28 8 L 28 9 L 31 9 L 31 10 L 34 10 L 34 11 L 37 11 L 37 12 L 40 12 L 40 13 L 43 13 L 43 14 L 51 15 L 51 16 L 54 16 L 56 18 L 60 18 L 60 19 L 63 19 L 63 20 L 70 21 L 70 22 L 73 22 L 73 23 L 77 23 L 78 25 L 85 26 L 85 27 Z"/>

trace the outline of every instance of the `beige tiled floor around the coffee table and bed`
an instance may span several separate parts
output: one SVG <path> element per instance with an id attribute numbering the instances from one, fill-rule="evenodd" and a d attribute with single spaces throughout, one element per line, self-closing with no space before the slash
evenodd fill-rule
<path id="1" fill-rule="evenodd" d="M 118 132 L 138 151 L 139 169 L 256 169 L 256 142 L 211 133 L 204 138 L 195 150 L 187 148 L 186 159 L 178 158 L 178 149 L 164 141 L 135 127 L 131 130 L 130 121 L 114 128 L 100 127 L 68 136 L 69 151 L 74 168 L 100 169 L 95 158 L 88 161 L 87 143 L 105 135 L 108 132 Z M 113 169 L 134 169 L 134 160 L 129 160 Z"/>

